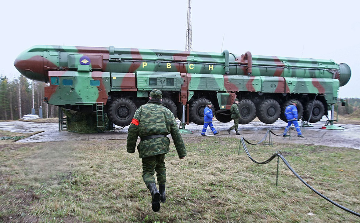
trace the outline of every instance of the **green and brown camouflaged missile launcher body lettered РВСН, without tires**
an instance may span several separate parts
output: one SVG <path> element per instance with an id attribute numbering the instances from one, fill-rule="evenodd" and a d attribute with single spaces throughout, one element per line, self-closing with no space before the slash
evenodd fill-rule
<path id="1" fill-rule="evenodd" d="M 89 112 L 91 104 L 103 103 L 105 112 L 129 113 L 129 117 L 111 120 L 121 126 L 130 124 L 135 111 L 129 105 L 108 111 L 108 104 L 127 98 L 138 107 L 147 102 L 153 88 L 171 100 L 165 106 L 174 107 L 172 112 L 178 117 L 182 104 L 188 114 L 195 101 L 206 98 L 214 104 L 216 117 L 227 122 L 234 97 L 240 99 L 240 107 L 244 99 L 257 107 L 267 99 L 280 105 L 297 99 L 306 105 L 316 97 L 327 113 L 337 100 L 339 86 L 351 76 L 347 64 L 333 60 L 113 46 L 36 45 L 21 53 L 14 65 L 26 77 L 50 84 L 45 88 L 48 103 Z M 256 111 L 248 108 L 248 112 Z M 201 124 L 193 115 L 186 120 Z"/>

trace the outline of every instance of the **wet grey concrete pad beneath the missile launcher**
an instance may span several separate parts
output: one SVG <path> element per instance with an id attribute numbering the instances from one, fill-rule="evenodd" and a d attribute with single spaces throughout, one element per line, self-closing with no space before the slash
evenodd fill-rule
<path id="1" fill-rule="evenodd" d="M 305 132 L 302 135 L 305 138 L 296 137 L 296 131 L 292 131 L 291 143 L 301 144 L 314 144 L 314 145 L 325 145 L 335 147 L 348 147 L 360 149 L 360 125 L 341 125 L 345 127 L 343 130 L 326 130 L 320 129 L 321 126 L 325 125 L 326 118 L 323 118 L 317 123 L 314 123 L 314 127 L 306 127 Z M 179 120 L 177 120 L 180 123 Z M 299 122 L 300 124 L 300 122 Z M 220 132 L 218 135 L 213 135 L 210 128 L 207 129 L 206 137 L 244 137 L 248 140 L 260 141 L 264 136 L 267 129 L 273 130 L 280 136 L 272 135 L 274 142 L 288 143 L 289 138 L 283 140 L 281 136 L 285 126 L 282 120 L 278 120 L 273 124 L 264 124 L 260 121 L 253 121 L 247 125 L 239 125 L 239 132 L 242 135 L 235 135 L 235 131 L 231 131 L 231 135 L 228 135 L 227 129 L 233 125 L 233 122 L 222 123 L 217 120 L 213 121 L 213 125 L 217 131 Z M 36 131 L 44 131 L 42 133 L 33 135 L 31 137 L 21 139 L 18 143 L 28 142 L 54 142 L 54 141 L 82 141 L 82 140 L 113 140 L 113 139 L 126 139 L 128 126 L 105 133 L 93 133 L 93 134 L 80 134 L 71 133 L 67 131 L 58 131 L 58 123 L 38 123 L 38 122 L 23 122 L 23 121 L 11 121 L 11 122 L 0 122 L 0 130 L 13 131 L 19 133 L 31 133 Z M 201 136 L 202 126 L 190 123 L 185 126 L 186 129 L 193 131 L 194 134 L 183 135 L 183 137 L 197 137 Z M 170 136 L 171 138 L 171 136 Z"/>

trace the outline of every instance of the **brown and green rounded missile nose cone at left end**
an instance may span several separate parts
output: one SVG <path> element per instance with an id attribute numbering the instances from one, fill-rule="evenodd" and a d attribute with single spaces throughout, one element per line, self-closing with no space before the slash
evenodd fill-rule
<path id="1" fill-rule="evenodd" d="M 35 81 L 46 81 L 43 57 L 40 52 L 23 52 L 14 61 L 16 69 L 24 76 Z"/>

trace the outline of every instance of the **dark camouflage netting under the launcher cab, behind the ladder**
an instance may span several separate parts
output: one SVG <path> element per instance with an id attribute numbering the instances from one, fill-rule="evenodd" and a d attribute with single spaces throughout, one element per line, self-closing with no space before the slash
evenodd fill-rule
<path id="1" fill-rule="evenodd" d="M 104 127 L 96 127 L 96 113 L 72 113 L 64 109 L 63 111 L 67 117 L 67 131 L 75 133 L 99 133 L 112 127 L 112 123 L 106 114 L 104 114 Z"/>

